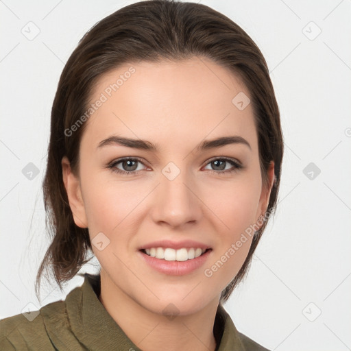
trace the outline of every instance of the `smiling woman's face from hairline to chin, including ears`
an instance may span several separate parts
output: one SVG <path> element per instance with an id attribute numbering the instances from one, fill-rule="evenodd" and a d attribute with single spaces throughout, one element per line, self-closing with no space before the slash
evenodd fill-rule
<path id="1" fill-rule="evenodd" d="M 156 313 L 219 301 L 245 261 L 248 228 L 265 212 L 274 176 L 270 167 L 266 189 L 249 98 L 232 73 L 204 58 L 130 64 L 101 77 L 79 178 L 64 171 L 64 179 L 111 289 Z M 210 143 L 217 138 L 227 139 Z M 167 248 L 167 259 L 141 250 L 150 247 Z M 191 247 L 206 252 L 191 258 Z"/>

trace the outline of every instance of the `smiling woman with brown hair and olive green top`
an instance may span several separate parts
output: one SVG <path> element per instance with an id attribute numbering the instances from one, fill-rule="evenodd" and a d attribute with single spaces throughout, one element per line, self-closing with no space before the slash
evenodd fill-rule
<path id="1" fill-rule="evenodd" d="M 61 287 L 3 319 L 1 350 L 267 350 L 223 303 L 274 212 L 283 142 L 267 64 L 206 5 L 129 5 L 82 38 L 58 84 L 43 184 Z"/>

